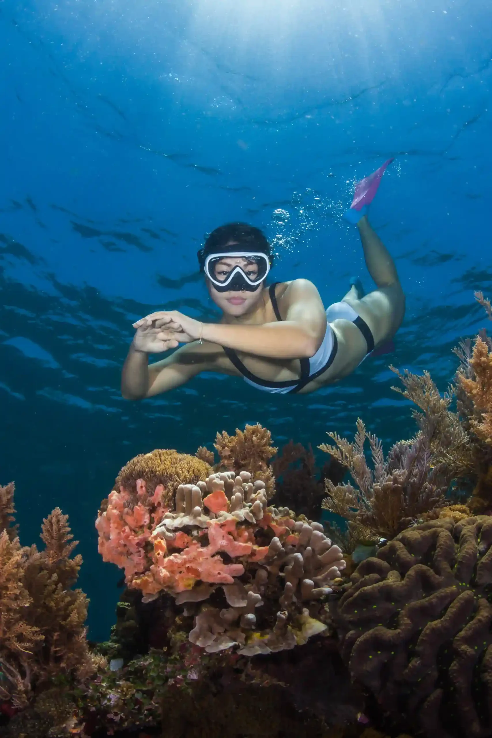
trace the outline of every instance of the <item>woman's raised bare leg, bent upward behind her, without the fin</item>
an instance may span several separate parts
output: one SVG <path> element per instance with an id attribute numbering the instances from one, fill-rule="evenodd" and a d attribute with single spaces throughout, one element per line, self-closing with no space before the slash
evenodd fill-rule
<path id="1" fill-rule="evenodd" d="M 395 263 L 366 216 L 358 221 L 357 227 L 367 269 L 378 289 L 359 299 L 356 286 L 353 285 L 343 300 L 369 325 L 375 345 L 378 346 L 398 331 L 405 314 L 405 295 Z"/>

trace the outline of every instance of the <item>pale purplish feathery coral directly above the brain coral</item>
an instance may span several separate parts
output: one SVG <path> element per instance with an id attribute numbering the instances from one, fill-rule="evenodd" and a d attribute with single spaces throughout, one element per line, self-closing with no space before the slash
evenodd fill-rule
<path id="1" fill-rule="evenodd" d="M 366 538 L 392 538 L 421 514 L 443 505 L 448 484 L 442 466 L 432 468 L 429 440 L 423 432 L 412 441 L 400 441 L 384 459 L 381 441 L 357 421 L 353 443 L 337 433 L 328 433 L 336 446 L 320 449 L 347 466 L 358 486 L 327 480 L 328 497 L 323 508 L 367 529 Z M 365 442 L 369 441 L 373 469 L 367 465 Z"/>

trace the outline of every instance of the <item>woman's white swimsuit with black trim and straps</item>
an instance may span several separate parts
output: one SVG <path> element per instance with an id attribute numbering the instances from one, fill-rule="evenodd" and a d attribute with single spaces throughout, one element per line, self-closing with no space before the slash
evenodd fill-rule
<path id="1" fill-rule="evenodd" d="M 278 282 L 275 282 L 269 286 L 268 295 L 271 300 L 271 306 L 274 308 L 275 317 L 279 322 L 281 322 L 283 318 L 280 315 L 277 297 L 275 296 L 275 288 L 277 287 L 277 284 Z M 316 354 L 311 356 L 311 359 L 299 359 L 301 365 L 301 376 L 299 376 L 299 379 L 289 379 L 285 382 L 273 382 L 270 379 L 262 379 L 259 376 L 255 376 L 244 366 L 233 348 L 227 348 L 226 346 L 223 346 L 222 348 L 224 348 L 224 353 L 232 365 L 234 365 L 235 368 L 243 375 L 245 382 L 248 382 L 248 384 L 252 384 L 253 387 L 257 387 L 258 390 L 263 390 L 264 392 L 295 394 L 300 392 L 306 384 L 309 384 L 313 379 L 319 377 L 333 364 L 336 351 L 338 350 L 336 334 L 330 326 L 330 323 L 333 323 L 333 320 L 339 320 L 340 318 L 350 320 L 350 323 L 356 325 L 364 336 L 364 339 L 366 339 L 367 354 L 370 354 L 370 352 L 373 351 L 374 338 L 369 325 L 367 325 L 365 320 L 362 320 L 362 318 L 358 316 L 356 311 L 350 307 L 348 303 L 341 302 L 330 305 L 326 311 L 326 317 L 328 323 L 322 345 L 319 347 L 318 351 L 316 351 Z"/>

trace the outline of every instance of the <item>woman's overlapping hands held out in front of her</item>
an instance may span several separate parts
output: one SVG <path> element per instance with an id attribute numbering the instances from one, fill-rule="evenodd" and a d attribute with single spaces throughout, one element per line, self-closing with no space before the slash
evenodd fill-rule
<path id="1" fill-rule="evenodd" d="M 134 323 L 136 334 L 133 345 L 136 351 L 160 354 L 180 343 L 190 343 L 201 338 L 203 325 L 199 320 L 183 315 L 177 310 L 160 310 L 150 313 Z"/>

